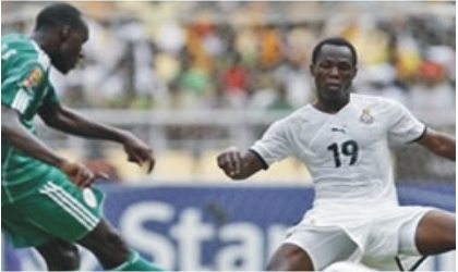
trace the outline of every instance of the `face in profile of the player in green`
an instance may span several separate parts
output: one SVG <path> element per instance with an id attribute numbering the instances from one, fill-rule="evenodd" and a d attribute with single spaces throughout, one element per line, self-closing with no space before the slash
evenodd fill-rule
<path id="1" fill-rule="evenodd" d="M 67 74 L 76 66 L 83 58 L 83 45 L 88 39 L 88 29 L 84 25 L 77 28 L 63 27 L 58 51 L 52 55 L 52 64 L 61 73 Z"/>

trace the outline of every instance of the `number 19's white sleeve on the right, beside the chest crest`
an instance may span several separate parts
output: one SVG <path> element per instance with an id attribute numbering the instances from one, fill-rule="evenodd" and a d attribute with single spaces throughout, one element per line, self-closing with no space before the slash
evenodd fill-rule
<path id="1" fill-rule="evenodd" d="M 398 143 L 410 143 L 421 138 L 426 126 L 397 101 L 391 102 L 389 137 Z"/>

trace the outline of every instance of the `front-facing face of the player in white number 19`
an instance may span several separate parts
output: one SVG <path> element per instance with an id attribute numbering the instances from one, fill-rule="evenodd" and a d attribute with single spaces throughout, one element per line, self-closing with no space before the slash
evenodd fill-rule
<path id="1" fill-rule="evenodd" d="M 311 65 L 318 98 L 327 101 L 348 98 L 357 74 L 352 60 L 353 55 L 348 47 L 325 45 L 321 48 L 316 63 Z"/>

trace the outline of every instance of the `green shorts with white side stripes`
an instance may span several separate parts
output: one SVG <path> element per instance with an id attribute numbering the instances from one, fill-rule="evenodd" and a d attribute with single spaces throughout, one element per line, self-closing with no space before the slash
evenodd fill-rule
<path id="1" fill-rule="evenodd" d="M 2 232 L 16 248 L 35 247 L 52 239 L 75 242 L 100 222 L 104 195 L 80 188 L 68 180 L 49 181 L 33 194 L 2 206 Z"/>

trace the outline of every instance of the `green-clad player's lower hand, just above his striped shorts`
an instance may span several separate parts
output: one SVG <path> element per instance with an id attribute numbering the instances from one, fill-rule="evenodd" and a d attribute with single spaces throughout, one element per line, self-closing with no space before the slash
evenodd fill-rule
<path id="1" fill-rule="evenodd" d="M 108 180 L 106 173 L 94 173 L 86 165 L 80 162 L 64 162 L 60 169 L 79 187 L 91 187 L 97 178 Z"/>

